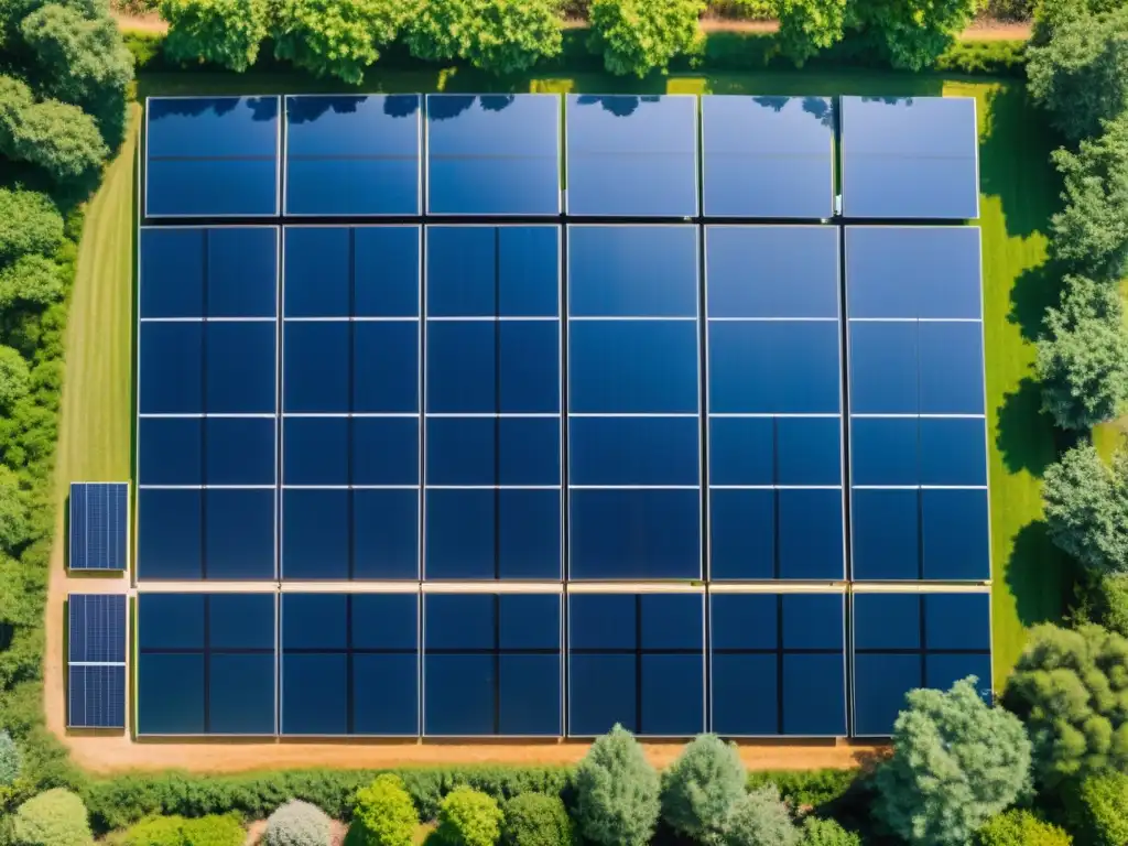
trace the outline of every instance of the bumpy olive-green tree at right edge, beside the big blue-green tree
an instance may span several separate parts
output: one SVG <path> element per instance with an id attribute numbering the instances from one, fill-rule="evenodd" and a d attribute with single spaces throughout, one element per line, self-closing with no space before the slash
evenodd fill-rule
<path id="1" fill-rule="evenodd" d="M 1003 704 L 1025 724 L 1046 787 L 1128 766 L 1128 640 L 1096 625 L 1030 629 Z"/>

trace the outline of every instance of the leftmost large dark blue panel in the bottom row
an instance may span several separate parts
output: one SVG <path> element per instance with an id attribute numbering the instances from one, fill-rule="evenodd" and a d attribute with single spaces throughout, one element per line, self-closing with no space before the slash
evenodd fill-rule
<path id="1" fill-rule="evenodd" d="M 274 593 L 138 596 L 138 734 L 274 734 Z"/>

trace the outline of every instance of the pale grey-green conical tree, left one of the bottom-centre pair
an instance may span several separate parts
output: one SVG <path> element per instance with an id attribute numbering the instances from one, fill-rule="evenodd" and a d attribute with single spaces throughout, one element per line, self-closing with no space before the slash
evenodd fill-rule
<path id="1" fill-rule="evenodd" d="M 575 772 L 575 821 L 602 846 L 645 846 L 660 810 L 658 773 L 622 725 L 596 739 Z"/>

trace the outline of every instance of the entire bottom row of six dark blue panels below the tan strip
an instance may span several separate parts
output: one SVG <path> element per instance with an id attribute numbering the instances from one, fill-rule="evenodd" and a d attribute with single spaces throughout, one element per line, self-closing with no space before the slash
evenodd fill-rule
<path id="1" fill-rule="evenodd" d="M 283 593 L 277 641 L 275 602 L 142 593 L 139 734 L 847 732 L 843 594 L 712 593 L 706 626 L 703 593 L 572 593 L 566 622 L 559 594 L 425 593 L 421 627 L 415 593 Z M 988 594 L 852 608 L 854 734 L 915 687 L 989 695 Z"/>

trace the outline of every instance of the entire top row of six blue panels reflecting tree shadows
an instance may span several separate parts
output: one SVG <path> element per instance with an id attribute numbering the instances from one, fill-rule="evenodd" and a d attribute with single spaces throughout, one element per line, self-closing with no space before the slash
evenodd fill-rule
<path id="1" fill-rule="evenodd" d="M 284 102 L 150 98 L 146 214 L 828 219 L 838 123 L 844 215 L 978 217 L 970 98 L 569 95 L 566 164 L 555 95 Z"/>

